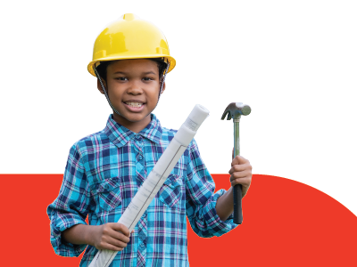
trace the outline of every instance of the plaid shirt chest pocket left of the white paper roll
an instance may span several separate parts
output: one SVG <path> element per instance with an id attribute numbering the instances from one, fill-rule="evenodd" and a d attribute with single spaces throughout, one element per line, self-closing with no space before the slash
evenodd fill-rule
<path id="1" fill-rule="evenodd" d="M 98 205 L 111 211 L 121 205 L 120 178 L 112 177 L 95 182 L 93 194 L 96 195 Z"/>

